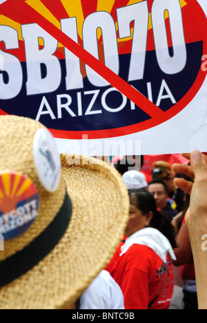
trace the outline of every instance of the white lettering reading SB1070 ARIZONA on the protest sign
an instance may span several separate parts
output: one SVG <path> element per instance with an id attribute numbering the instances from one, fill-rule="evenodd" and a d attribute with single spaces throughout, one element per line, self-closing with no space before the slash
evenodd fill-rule
<path id="1" fill-rule="evenodd" d="M 182 10 L 179 0 L 154 0 L 152 3 L 152 30 L 155 39 L 155 50 L 157 62 L 162 72 L 173 75 L 181 72 L 186 66 L 187 52 L 184 37 L 184 26 L 182 21 Z M 169 50 L 169 39 L 166 30 L 166 19 L 170 23 L 170 35 L 172 39 L 172 52 Z M 140 1 L 123 8 L 117 8 L 117 26 L 113 17 L 108 12 L 98 11 L 89 14 L 83 22 L 83 47 L 94 57 L 100 59 L 100 50 L 103 50 L 103 63 L 113 72 L 119 75 L 119 50 L 117 44 L 117 29 L 119 39 L 127 40 L 132 37 L 132 49 L 130 66 L 128 70 L 128 81 L 135 81 L 144 78 L 146 64 L 146 46 L 148 40 L 148 3 Z M 134 26 L 132 28 L 132 23 Z M 75 43 L 79 43 L 77 32 L 77 18 L 71 17 L 61 19 L 61 30 L 68 35 Z M 133 30 L 133 35 L 132 35 Z M 39 27 L 37 23 L 21 26 L 22 37 L 24 39 L 26 51 L 27 83 L 28 95 L 39 95 L 43 93 L 55 92 L 61 84 L 61 64 L 55 56 L 58 41 L 49 35 L 48 32 Z M 17 30 L 9 26 L 0 26 L 0 42 L 5 43 L 6 50 L 19 48 L 19 37 Z M 101 41 L 100 41 L 101 40 Z M 41 45 L 40 45 L 41 44 Z M 68 48 L 65 50 L 66 63 L 66 90 L 83 88 L 83 75 L 81 74 L 80 59 L 72 54 Z M 206 60 L 206 57 L 202 58 Z M 202 69 L 206 70 L 206 61 L 202 63 Z M 23 71 L 21 62 L 17 57 L 0 49 L 0 99 L 12 99 L 19 95 L 23 85 Z M 108 86 L 106 79 L 99 76 L 97 72 L 86 65 L 86 75 L 93 86 Z M 152 101 L 151 83 L 147 83 L 148 99 Z M 88 92 L 85 93 L 87 95 Z M 96 96 L 97 94 L 95 94 Z M 172 93 L 168 92 L 172 101 Z M 92 111 L 93 101 L 86 111 L 86 115 L 101 113 L 101 110 Z M 165 97 L 160 94 L 157 102 Z M 59 118 L 61 110 L 65 108 L 70 115 L 75 117 L 75 113 L 69 108 L 68 102 L 62 103 L 59 97 Z M 52 119 L 56 119 L 48 102 L 45 105 L 47 111 L 39 110 L 37 119 L 43 114 L 49 114 Z M 125 99 L 124 99 L 125 100 Z M 106 102 L 106 110 L 112 112 Z M 124 105 L 124 102 L 123 102 Z M 83 115 L 81 92 L 77 93 L 77 115 Z M 122 104 L 119 107 L 122 108 Z M 118 112 L 119 108 L 113 109 Z M 135 110 L 135 105 L 131 106 Z"/>

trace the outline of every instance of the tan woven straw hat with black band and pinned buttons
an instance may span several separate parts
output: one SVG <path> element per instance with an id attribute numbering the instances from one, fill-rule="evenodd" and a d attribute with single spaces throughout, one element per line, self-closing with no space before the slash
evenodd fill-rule
<path id="1" fill-rule="evenodd" d="M 0 117 L 0 309 L 67 309 L 110 262 L 128 221 L 117 170 L 77 155 L 60 163 L 49 134 L 32 119 Z"/>

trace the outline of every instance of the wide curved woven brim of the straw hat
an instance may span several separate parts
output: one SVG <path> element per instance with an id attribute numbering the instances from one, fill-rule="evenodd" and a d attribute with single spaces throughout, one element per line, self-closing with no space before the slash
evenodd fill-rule
<path id="1" fill-rule="evenodd" d="M 1 309 L 67 309 L 110 262 L 122 238 L 129 199 L 121 176 L 99 159 L 62 155 L 61 161 L 72 201 L 68 229 L 37 266 L 0 289 Z"/>

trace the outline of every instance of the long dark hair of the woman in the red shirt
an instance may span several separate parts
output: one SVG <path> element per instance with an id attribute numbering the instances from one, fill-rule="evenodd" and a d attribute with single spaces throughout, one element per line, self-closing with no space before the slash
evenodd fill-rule
<path id="1" fill-rule="evenodd" d="M 172 226 L 170 219 L 167 215 L 162 212 L 157 211 L 157 206 L 155 203 L 155 198 L 152 193 L 147 190 L 129 190 L 130 198 L 135 196 L 137 208 L 146 214 L 149 212 L 153 213 L 153 217 L 150 221 L 150 226 L 159 230 L 165 237 L 169 240 L 172 248 L 177 248 L 177 243 L 175 241 L 176 231 L 174 226 Z"/>

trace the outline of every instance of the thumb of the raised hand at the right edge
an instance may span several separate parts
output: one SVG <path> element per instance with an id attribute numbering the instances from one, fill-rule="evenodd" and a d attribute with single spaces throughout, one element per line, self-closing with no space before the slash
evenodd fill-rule
<path id="1" fill-rule="evenodd" d="M 193 168 L 196 180 L 204 179 L 204 177 L 207 176 L 206 161 L 198 150 L 194 150 L 193 153 L 191 153 L 190 165 Z"/>

